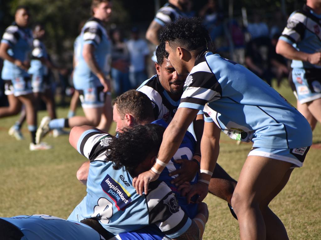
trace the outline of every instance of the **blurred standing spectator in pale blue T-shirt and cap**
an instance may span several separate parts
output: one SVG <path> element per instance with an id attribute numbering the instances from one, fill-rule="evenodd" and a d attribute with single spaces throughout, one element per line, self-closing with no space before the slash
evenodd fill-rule
<path id="1" fill-rule="evenodd" d="M 139 38 L 139 30 L 136 27 L 132 28 L 127 48 L 130 54 L 129 80 L 132 88 L 137 88 L 147 79 L 149 49 L 146 41 Z"/>

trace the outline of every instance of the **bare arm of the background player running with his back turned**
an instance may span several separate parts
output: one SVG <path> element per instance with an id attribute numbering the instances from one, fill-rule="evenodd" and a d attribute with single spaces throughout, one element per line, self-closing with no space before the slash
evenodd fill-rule
<path id="1" fill-rule="evenodd" d="M 99 78 L 100 83 L 104 86 L 104 92 L 110 91 L 110 82 L 99 68 L 99 65 L 95 59 L 94 51 L 95 47 L 92 44 L 85 44 L 83 46 L 82 56 L 88 64 L 90 70 Z"/>

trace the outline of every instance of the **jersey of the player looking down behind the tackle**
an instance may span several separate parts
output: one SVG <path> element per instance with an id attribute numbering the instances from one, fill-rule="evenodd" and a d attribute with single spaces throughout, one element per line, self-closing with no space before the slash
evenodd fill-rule
<path id="1" fill-rule="evenodd" d="M 137 91 L 145 93 L 152 100 L 155 119 L 163 119 L 170 123 L 173 119 L 179 100 L 172 100 L 161 85 L 158 75 L 152 76 L 137 88 Z"/>

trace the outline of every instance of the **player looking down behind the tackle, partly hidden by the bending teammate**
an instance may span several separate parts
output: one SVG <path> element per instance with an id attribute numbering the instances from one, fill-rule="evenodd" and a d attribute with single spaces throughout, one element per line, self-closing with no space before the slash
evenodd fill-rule
<path id="1" fill-rule="evenodd" d="M 155 68 L 157 75 L 146 80 L 137 90 L 145 93 L 152 100 L 155 119 L 163 119 L 166 123 L 170 123 L 177 111 L 187 75 L 178 75 L 175 68 L 171 65 L 167 59 L 168 53 L 165 51 L 165 43 L 161 43 L 157 47 L 156 58 L 157 63 L 155 63 Z M 197 133 L 198 146 L 193 158 L 200 160 L 199 146 L 204 127 L 203 114 L 197 115 L 193 126 L 194 128 L 188 128 L 188 131 Z M 172 184 L 180 185 L 184 181 L 190 181 L 194 178 L 196 172 L 199 171 L 199 162 L 197 161 L 187 161 L 184 159 L 175 161 L 181 163 L 182 168 L 170 173 L 172 176 L 179 174 L 179 176 L 172 180 Z M 226 200 L 230 206 L 236 183 L 219 164 L 216 164 L 210 180 L 209 192 Z M 230 210 L 232 209 L 230 208 Z M 232 215 L 235 217 L 233 212 Z"/>

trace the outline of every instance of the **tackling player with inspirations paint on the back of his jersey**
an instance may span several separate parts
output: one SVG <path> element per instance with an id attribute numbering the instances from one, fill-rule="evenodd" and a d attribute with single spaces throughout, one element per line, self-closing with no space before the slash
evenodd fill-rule
<path id="1" fill-rule="evenodd" d="M 152 118 L 152 104 L 144 96 L 149 106 L 143 106 L 143 111 Z M 145 124 L 123 129 L 112 137 L 93 127 L 74 127 L 70 143 L 90 160 L 90 168 L 87 196 L 68 220 L 96 219 L 111 234 L 156 224 L 160 229 L 157 237 L 153 238 L 153 232 L 149 239 L 159 239 L 160 233 L 162 237 L 199 239 L 208 219 L 204 204 L 191 220 L 165 183 L 155 182 L 146 196 L 139 196 L 131 186 L 133 177 L 154 164 L 163 132 L 158 124 Z"/>

